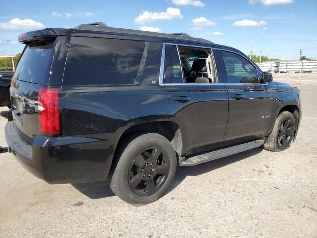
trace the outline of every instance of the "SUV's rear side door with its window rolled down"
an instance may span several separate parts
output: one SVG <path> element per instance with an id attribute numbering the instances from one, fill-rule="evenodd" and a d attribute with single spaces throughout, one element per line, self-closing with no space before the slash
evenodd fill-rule
<path id="1" fill-rule="evenodd" d="M 183 152 L 188 155 L 210 150 L 212 144 L 224 140 L 228 99 L 226 87 L 216 81 L 216 75 L 212 83 L 184 83 L 182 55 L 178 52 L 181 47 L 166 45 L 164 85 L 168 114 L 180 126 Z M 205 50 L 212 55 L 211 49 Z"/>

